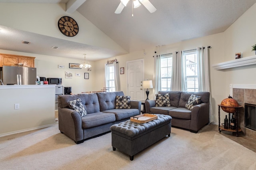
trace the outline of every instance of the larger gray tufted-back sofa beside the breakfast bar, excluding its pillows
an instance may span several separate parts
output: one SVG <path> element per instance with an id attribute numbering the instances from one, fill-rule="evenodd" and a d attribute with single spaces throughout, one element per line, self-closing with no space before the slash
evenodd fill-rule
<path id="1" fill-rule="evenodd" d="M 116 96 L 124 96 L 124 93 L 119 91 L 58 96 L 60 132 L 79 144 L 84 142 L 84 139 L 110 132 L 110 126 L 140 114 L 140 101 L 130 101 L 130 109 L 115 109 Z M 68 101 L 78 98 L 87 112 L 84 117 L 68 106 Z"/>

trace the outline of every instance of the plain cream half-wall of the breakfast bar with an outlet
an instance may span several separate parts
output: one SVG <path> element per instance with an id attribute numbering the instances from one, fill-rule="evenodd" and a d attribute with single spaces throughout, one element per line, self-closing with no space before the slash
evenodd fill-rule
<path id="1" fill-rule="evenodd" d="M 0 137 L 55 123 L 56 85 L 0 85 Z"/>

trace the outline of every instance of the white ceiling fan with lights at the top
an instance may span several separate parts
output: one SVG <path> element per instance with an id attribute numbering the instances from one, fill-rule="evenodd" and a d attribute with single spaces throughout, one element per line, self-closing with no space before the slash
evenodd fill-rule
<path id="1" fill-rule="evenodd" d="M 130 0 L 120 0 L 120 1 L 121 2 L 116 8 L 115 14 L 120 14 Z M 151 4 L 151 2 L 149 2 L 149 0 L 132 0 L 132 1 L 133 1 L 134 8 L 139 7 L 141 2 L 148 9 L 150 13 L 153 13 L 156 11 L 156 8 Z"/>

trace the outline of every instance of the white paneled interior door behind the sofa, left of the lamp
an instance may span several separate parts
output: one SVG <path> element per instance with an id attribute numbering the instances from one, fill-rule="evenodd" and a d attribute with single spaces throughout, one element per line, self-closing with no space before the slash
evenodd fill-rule
<path id="1" fill-rule="evenodd" d="M 128 95 L 131 100 L 143 100 L 144 59 L 128 61 L 127 68 Z"/>

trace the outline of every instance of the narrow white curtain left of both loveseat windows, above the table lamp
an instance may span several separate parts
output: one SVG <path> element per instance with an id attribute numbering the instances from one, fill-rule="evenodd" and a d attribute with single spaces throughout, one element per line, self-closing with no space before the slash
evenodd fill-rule
<path id="1" fill-rule="evenodd" d="M 154 88 L 153 94 L 157 94 L 161 90 L 161 55 L 154 55 L 155 67 L 154 67 Z"/>

